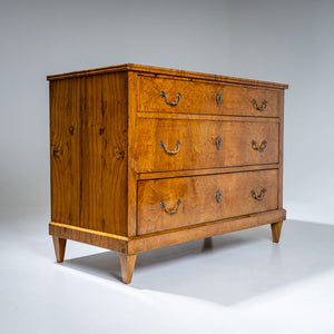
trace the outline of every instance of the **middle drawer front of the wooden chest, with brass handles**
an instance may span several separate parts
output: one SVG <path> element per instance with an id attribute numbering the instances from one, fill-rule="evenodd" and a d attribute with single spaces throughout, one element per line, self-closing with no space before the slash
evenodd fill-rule
<path id="1" fill-rule="evenodd" d="M 278 163 L 278 124 L 138 119 L 138 173 Z"/>

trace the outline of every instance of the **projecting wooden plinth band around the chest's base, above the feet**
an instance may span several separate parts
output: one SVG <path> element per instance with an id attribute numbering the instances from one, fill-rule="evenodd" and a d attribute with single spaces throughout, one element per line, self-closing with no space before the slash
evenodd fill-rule
<path id="1" fill-rule="evenodd" d="M 51 222 L 49 224 L 49 233 L 50 235 L 112 249 L 119 253 L 137 254 L 149 249 L 271 224 L 273 222 L 284 220 L 285 218 L 285 209 L 275 209 L 210 223 L 189 225 L 135 237 L 121 237 L 108 233 Z"/>

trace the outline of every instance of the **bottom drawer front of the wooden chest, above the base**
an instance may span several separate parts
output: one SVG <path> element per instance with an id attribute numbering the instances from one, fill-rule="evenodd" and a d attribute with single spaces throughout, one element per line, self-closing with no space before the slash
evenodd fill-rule
<path id="1" fill-rule="evenodd" d="M 277 169 L 138 183 L 139 235 L 276 208 Z"/>

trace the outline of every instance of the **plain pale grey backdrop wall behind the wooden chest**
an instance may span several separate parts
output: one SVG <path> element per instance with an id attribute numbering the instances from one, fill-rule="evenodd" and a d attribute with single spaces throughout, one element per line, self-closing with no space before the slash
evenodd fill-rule
<path id="1" fill-rule="evenodd" d="M 46 76 L 137 62 L 286 82 L 288 217 L 334 224 L 334 1 L 24 1 L 0 8 L 0 206 L 49 205 Z"/>

